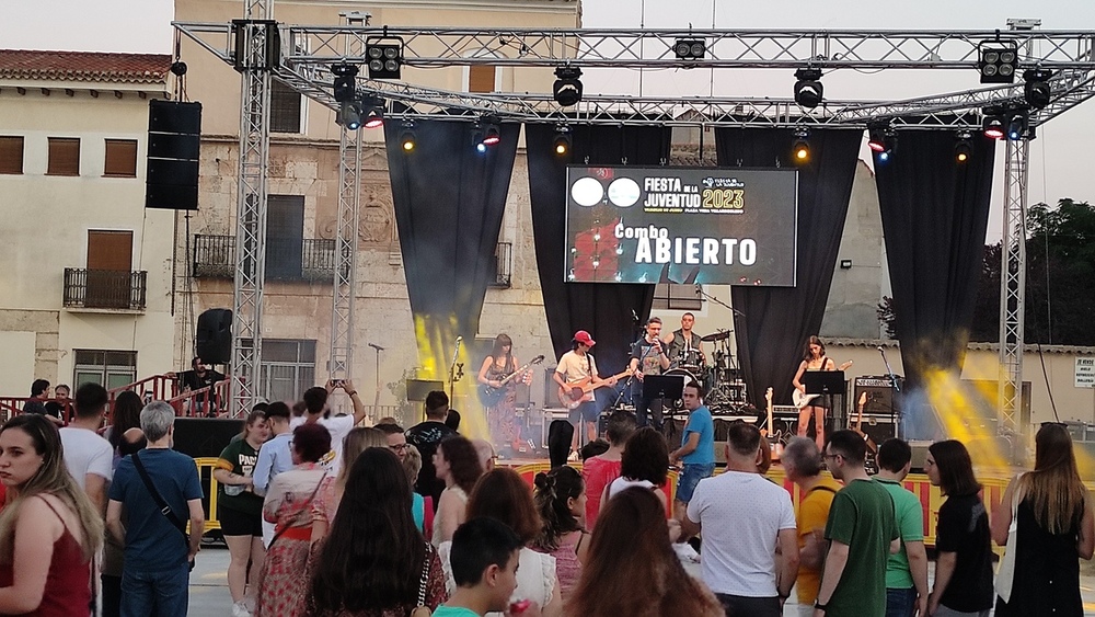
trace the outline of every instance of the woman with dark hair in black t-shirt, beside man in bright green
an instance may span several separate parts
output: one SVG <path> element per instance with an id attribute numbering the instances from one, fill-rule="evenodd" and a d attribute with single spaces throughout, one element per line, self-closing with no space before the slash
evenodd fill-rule
<path id="1" fill-rule="evenodd" d="M 992 546 L 989 513 L 978 493 L 973 462 L 957 439 L 935 442 L 927 448 L 924 471 L 947 501 L 940 506 L 935 530 L 935 584 L 927 613 L 940 607 L 946 615 L 988 617 L 992 608 Z"/>

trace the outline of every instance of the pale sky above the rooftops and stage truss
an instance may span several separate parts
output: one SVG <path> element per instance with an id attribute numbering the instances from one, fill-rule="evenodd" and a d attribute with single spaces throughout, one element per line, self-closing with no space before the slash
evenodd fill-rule
<path id="1" fill-rule="evenodd" d="M 546 0 L 545 0 L 546 1 Z M 242 13 L 242 2 L 241 13 Z M 360 2 L 368 9 L 368 2 Z M 1042 20 L 1042 30 L 1095 31 L 1090 0 L 919 0 L 917 2 L 823 2 L 783 0 L 584 0 L 583 26 L 639 28 L 782 30 L 991 30 L 1008 18 Z M 277 11 L 275 9 L 275 15 Z M 58 20 L 58 18 L 61 18 Z M 0 48 L 82 52 L 171 52 L 170 0 L 0 0 Z M 382 25 L 382 24 L 377 24 Z M 185 60 L 185 58 L 184 58 Z M 587 71 L 587 92 L 687 96 L 791 95 L 786 71 L 608 69 Z M 826 96 L 897 100 L 979 88 L 972 71 L 834 71 L 822 80 Z M 1029 202 L 1071 197 L 1095 203 L 1092 162 L 1095 102 L 1087 101 L 1041 127 L 1030 145 Z M 996 181 L 989 241 L 1000 238 L 1003 145 L 998 146 Z M 864 158 L 866 156 L 864 155 Z"/>

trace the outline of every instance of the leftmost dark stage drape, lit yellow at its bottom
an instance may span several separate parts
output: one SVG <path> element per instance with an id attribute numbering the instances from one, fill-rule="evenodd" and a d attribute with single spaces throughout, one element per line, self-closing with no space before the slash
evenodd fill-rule
<path id="1" fill-rule="evenodd" d="M 384 124 L 418 358 L 434 378 L 448 377 L 456 338 L 479 332 L 520 129 L 503 124 L 502 142 L 480 153 L 472 123 L 419 121 L 405 153 L 403 128 Z"/>

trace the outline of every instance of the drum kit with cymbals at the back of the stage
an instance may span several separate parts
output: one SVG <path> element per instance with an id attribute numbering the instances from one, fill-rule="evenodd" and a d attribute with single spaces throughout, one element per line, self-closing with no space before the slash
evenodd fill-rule
<path id="1" fill-rule="evenodd" d="M 665 374 L 680 375 L 685 384 L 695 381 L 704 387 L 707 391 L 707 408 L 715 415 L 745 413 L 748 405 L 746 384 L 741 380 L 741 372 L 730 353 L 730 331 L 717 330 L 700 340 L 714 343 L 712 364 L 704 363 L 700 350 L 684 347 L 677 357 L 670 358 L 669 370 Z"/>

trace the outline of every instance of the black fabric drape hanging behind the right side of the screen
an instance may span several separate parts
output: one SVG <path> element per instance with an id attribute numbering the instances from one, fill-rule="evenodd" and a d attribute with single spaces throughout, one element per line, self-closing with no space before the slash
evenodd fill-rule
<path id="1" fill-rule="evenodd" d="M 768 388 L 776 404 L 791 403 L 806 340 L 821 328 L 862 137 L 862 130 L 810 132 L 810 162 L 798 167 L 796 286 L 731 288 L 738 362 L 757 407 Z M 787 167 L 794 141 L 789 129 L 715 132 L 719 167 Z"/>

